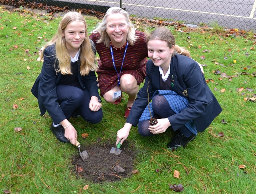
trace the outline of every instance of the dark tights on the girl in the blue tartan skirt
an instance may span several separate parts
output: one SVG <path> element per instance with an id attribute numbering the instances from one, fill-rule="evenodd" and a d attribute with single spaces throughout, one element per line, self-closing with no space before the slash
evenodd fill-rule
<path id="1" fill-rule="evenodd" d="M 169 103 L 162 95 L 156 95 L 152 98 L 152 107 L 153 111 L 155 112 L 155 115 L 153 118 L 155 119 L 162 119 L 167 118 L 175 114 L 175 112 L 172 111 Z M 151 136 L 153 135 L 149 128 L 149 120 L 143 120 L 138 123 L 138 131 L 140 135 L 143 137 Z M 189 137 L 192 135 L 192 133 L 188 130 L 188 128 L 183 125 L 180 127 L 179 132 L 182 133 L 185 137 Z"/>

